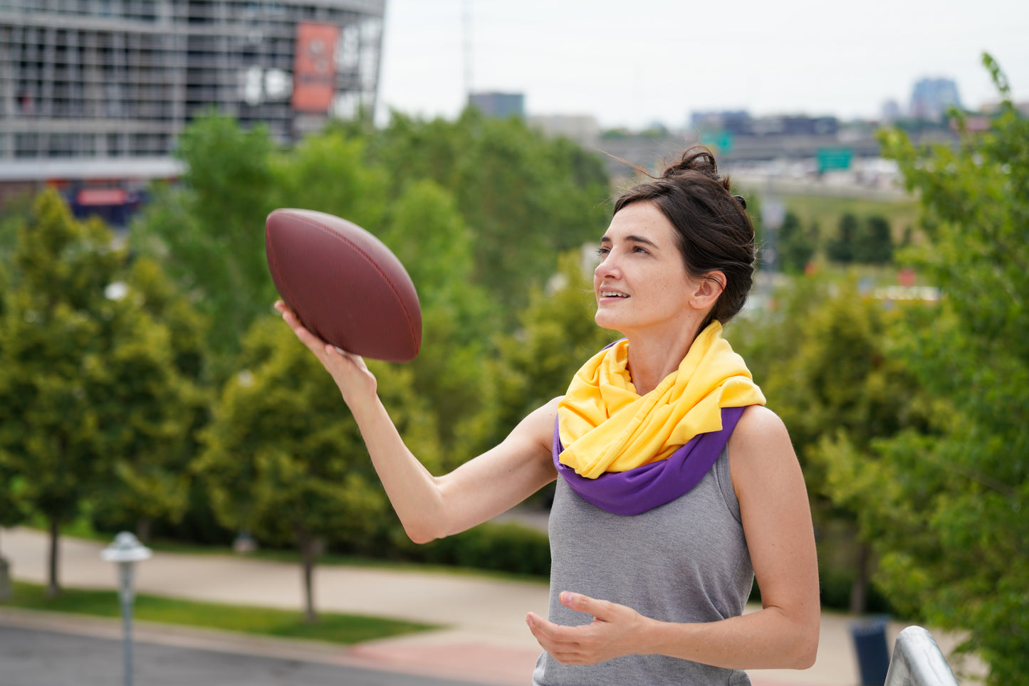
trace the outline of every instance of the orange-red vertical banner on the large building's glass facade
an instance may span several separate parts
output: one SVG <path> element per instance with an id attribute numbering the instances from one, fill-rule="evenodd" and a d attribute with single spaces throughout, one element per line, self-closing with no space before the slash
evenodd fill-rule
<path id="1" fill-rule="evenodd" d="M 335 43 L 340 28 L 331 24 L 296 25 L 293 56 L 294 110 L 327 112 L 335 95 Z"/>

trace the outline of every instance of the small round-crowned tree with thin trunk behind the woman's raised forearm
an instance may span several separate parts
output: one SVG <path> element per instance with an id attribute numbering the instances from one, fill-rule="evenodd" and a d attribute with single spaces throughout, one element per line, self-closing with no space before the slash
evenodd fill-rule
<path id="1" fill-rule="evenodd" d="M 331 376 L 277 317 L 244 340 L 243 369 L 225 385 L 193 470 L 223 526 L 300 552 L 306 617 L 326 541 L 357 543 L 384 527 L 386 499 Z M 409 444 L 429 466 L 431 419 L 412 394 L 406 368 L 372 365 L 379 392 Z"/>

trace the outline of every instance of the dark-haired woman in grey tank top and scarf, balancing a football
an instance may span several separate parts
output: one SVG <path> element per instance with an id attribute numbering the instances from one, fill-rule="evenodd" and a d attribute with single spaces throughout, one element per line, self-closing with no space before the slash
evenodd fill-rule
<path id="1" fill-rule="evenodd" d="M 750 289 L 754 233 L 713 155 L 687 150 L 615 204 L 594 274 L 597 323 L 625 338 L 496 447 L 433 476 L 404 446 L 363 361 L 307 331 L 407 535 L 491 519 L 558 479 L 538 686 L 747 684 L 806 669 L 818 573 L 803 475 L 721 325 Z M 756 577 L 762 608 L 743 615 Z"/>

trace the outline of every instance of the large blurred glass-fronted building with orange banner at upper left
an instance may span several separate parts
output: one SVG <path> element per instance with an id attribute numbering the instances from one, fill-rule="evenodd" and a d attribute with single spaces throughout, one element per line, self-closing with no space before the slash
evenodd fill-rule
<path id="1" fill-rule="evenodd" d="M 0 203 L 39 183 L 101 214 L 131 202 L 179 173 L 169 153 L 210 109 L 281 142 L 374 109 L 384 6 L 0 0 Z"/>

